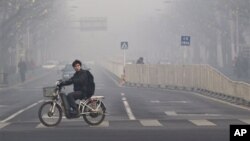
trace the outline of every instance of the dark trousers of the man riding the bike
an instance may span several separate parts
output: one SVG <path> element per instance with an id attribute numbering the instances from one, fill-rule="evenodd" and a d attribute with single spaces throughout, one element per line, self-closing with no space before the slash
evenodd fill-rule
<path id="1" fill-rule="evenodd" d="M 81 92 L 81 91 L 75 91 L 75 92 L 71 92 L 67 95 L 67 99 L 69 102 L 70 107 L 72 107 L 74 110 L 77 109 L 77 105 L 75 103 L 75 101 L 77 99 L 84 99 L 85 95 Z"/>

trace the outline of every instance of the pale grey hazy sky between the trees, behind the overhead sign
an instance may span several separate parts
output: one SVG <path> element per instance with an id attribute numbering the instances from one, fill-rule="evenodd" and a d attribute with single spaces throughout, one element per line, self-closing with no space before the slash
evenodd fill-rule
<path id="1" fill-rule="evenodd" d="M 60 46 L 67 50 L 68 58 L 86 56 L 84 53 L 91 56 L 100 56 L 98 55 L 100 53 L 122 56 L 121 41 L 129 42 L 128 56 L 139 57 L 143 54 L 139 48 L 144 48 L 143 44 L 150 45 L 146 43 L 148 41 L 143 34 L 148 32 L 146 31 L 148 24 L 164 10 L 164 1 L 67 0 L 67 6 L 64 12 L 71 21 L 70 27 L 79 27 L 78 21 L 84 17 L 107 18 L 107 31 L 84 32 L 80 29 L 65 31 L 58 40 L 61 43 Z"/>

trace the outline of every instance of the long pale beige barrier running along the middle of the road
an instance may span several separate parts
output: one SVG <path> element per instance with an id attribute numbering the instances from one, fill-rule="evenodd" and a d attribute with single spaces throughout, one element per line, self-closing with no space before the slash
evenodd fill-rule
<path id="1" fill-rule="evenodd" d="M 105 67 L 117 77 L 123 74 L 123 65 L 109 62 Z M 250 102 L 250 84 L 232 81 L 215 68 L 202 65 L 127 64 L 125 80 L 129 84 L 156 87 L 198 89 L 219 97 Z"/>

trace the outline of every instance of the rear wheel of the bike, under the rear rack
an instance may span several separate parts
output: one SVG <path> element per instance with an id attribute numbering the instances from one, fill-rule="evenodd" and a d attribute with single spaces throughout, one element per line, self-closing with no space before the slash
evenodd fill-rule
<path id="1" fill-rule="evenodd" d="M 86 121 L 86 123 L 88 123 L 89 125 L 99 125 L 100 123 L 102 123 L 105 118 L 106 112 L 104 104 L 99 100 L 92 100 L 89 101 L 86 105 L 87 106 L 85 106 L 83 110 L 85 113 L 83 115 L 83 119 Z M 97 108 L 98 105 L 100 105 L 99 108 Z M 92 111 L 88 106 L 94 109 L 94 111 Z"/>

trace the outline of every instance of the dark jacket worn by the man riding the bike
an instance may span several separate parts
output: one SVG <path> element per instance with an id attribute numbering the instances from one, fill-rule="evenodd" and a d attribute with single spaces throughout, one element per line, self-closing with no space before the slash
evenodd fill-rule
<path id="1" fill-rule="evenodd" d="M 87 92 L 87 85 L 88 85 L 88 75 L 85 70 L 80 70 L 75 72 L 75 74 L 69 79 L 62 82 L 63 85 L 74 85 L 74 91 L 82 91 Z"/>

